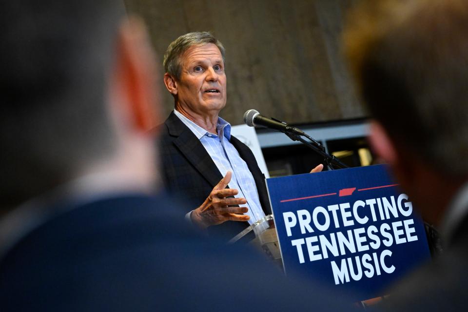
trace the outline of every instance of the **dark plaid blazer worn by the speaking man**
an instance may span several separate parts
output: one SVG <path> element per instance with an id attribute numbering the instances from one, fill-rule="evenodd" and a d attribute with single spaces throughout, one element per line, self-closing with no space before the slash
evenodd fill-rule
<path id="1" fill-rule="evenodd" d="M 162 179 L 165 187 L 169 193 L 183 196 L 188 200 L 192 209 L 195 209 L 205 201 L 223 176 L 200 140 L 195 137 L 193 132 L 185 126 L 174 112 L 169 115 L 159 130 L 159 151 Z M 231 136 L 230 141 L 254 176 L 263 211 L 266 215 L 271 214 L 265 176 L 258 168 L 254 154 L 234 136 Z M 227 221 L 209 227 L 208 232 L 210 235 L 230 239 L 247 226 L 247 222 Z"/>

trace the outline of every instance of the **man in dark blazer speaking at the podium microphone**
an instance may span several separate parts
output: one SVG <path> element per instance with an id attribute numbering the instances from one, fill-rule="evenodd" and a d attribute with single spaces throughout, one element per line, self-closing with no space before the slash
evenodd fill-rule
<path id="1" fill-rule="evenodd" d="M 169 45 L 164 83 L 175 109 L 160 139 L 168 190 L 193 204 L 187 218 L 229 239 L 271 208 L 253 153 L 218 116 L 226 105 L 224 54 L 221 42 L 208 32 L 185 34 Z"/>

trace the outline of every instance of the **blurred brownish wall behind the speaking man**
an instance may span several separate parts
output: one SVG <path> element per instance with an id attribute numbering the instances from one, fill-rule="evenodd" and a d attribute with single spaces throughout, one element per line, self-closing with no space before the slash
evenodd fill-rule
<path id="1" fill-rule="evenodd" d="M 221 116 L 232 124 L 251 108 L 291 123 L 365 115 L 339 52 L 353 0 L 124 2 L 145 20 L 159 63 L 169 43 L 188 32 L 212 31 L 223 42 L 228 102 Z M 169 114 L 168 92 L 163 101 Z"/>

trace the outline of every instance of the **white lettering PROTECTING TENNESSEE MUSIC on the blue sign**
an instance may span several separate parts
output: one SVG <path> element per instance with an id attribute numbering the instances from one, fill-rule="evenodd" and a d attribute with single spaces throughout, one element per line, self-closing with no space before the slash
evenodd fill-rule
<path id="1" fill-rule="evenodd" d="M 318 206 L 312 215 L 305 209 L 285 212 L 283 219 L 288 236 L 299 231 L 308 235 L 291 240 L 299 263 L 305 263 L 306 257 L 312 262 L 347 256 L 338 263 L 330 262 L 335 284 L 344 284 L 351 279 L 358 281 L 363 276 L 371 278 L 395 271 L 391 264 L 392 252 L 386 248 L 418 240 L 414 220 L 409 218 L 411 213 L 408 195 L 401 194 L 396 200 L 390 196 L 357 200 L 352 205 Z M 399 220 L 391 222 L 392 218 Z M 352 229 L 346 229 L 351 226 Z"/>

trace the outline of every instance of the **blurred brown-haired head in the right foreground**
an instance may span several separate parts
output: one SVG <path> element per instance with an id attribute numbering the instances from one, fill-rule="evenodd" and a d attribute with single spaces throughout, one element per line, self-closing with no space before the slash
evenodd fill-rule
<path id="1" fill-rule="evenodd" d="M 465 0 L 363 1 L 344 34 L 370 143 L 436 225 L 468 178 L 467 38 Z"/>

